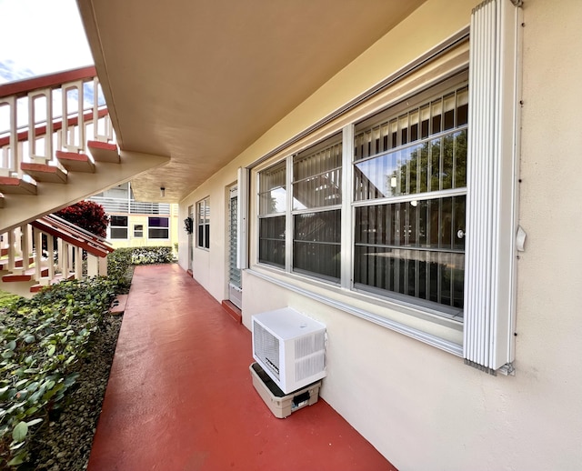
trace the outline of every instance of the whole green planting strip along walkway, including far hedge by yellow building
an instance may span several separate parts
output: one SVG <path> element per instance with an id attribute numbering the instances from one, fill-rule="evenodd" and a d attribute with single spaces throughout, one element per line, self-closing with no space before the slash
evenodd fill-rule
<path id="1" fill-rule="evenodd" d="M 103 363 L 109 353 L 109 361 L 113 357 L 113 351 L 99 351 L 103 349 L 93 345 L 95 338 L 104 338 L 105 331 L 111 336 L 114 325 L 118 332 L 120 322 L 106 316 L 111 301 L 115 294 L 129 291 L 134 265 L 172 261 L 171 247 L 116 249 L 107 259 L 108 276 L 61 282 L 32 299 L 0 292 L 0 469 L 56 466 L 50 464 L 52 458 L 69 454 L 62 448 L 55 453 L 55 445 L 49 445 L 54 444 L 55 430 L 70 435 L 70 430 L 64 430 L 70 425 L 65 424 L 72 423 L 76 411 L 85 409 L 83 416 L 95 416 L 96 421 L 102 398 L 87 401 L 92 388 L 80 385 L 78 379 L 85 369 Z M 87 356 L 93 356 L 91 361 Z M 102 366 L 101 375 L 104 371 L 108 375 L 108 368 Z M 102 383 L 104 393 L 106 376 L 92 380 Z M 72 399 L 79 396 L 77 388 L 88 390 L 82 393 L 85 402 L 81 405 Z M 95 412 L 86 410 L 89 403 Z M 58 421 L 61 414 L 67 417 L 62 425 Z M 76 422 L 84 420 L 75 420 L 75 430 L 79 427 Z M 92 426 L 84 426 L 88 428 L 85 448 L 90 450 Z M 75 451 L 80 448 L 78 439 L 69 439 Z M 72 466 L 88 457 L 85 451 Z M 71 456 L 61 456 L 59 463 L 63 459 L 70 462 Z"/>

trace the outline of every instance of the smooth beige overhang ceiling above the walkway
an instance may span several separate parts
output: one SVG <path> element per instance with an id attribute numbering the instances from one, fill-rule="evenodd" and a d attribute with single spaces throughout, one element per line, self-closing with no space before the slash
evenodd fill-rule
<path id="1" fill-rule="evenodd" d="M 425 0 L 78 0 L 132 180 L 177 202 Z"/>

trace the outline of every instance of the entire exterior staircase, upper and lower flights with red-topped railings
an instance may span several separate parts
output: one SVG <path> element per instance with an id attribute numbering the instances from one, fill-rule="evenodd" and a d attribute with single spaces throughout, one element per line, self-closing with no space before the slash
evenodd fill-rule
<path id="1" fill-rule="evenodd" d="M 0 85 L 0 289 L 105 275 L 113 249 L 51 213 L 167 161 L 119 149 L 93 66 Z"/>

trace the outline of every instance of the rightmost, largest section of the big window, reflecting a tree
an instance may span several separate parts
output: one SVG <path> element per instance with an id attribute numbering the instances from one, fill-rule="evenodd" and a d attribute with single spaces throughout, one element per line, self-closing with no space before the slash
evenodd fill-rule
<path id="1" fill-rule="evenodd" d="M 356 125 L 354 283 L 462 313 L 467 85 Z"/>

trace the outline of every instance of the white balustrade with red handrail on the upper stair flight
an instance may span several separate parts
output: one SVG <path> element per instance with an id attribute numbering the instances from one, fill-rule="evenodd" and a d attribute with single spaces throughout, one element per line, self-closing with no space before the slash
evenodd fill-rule
<path id="1" fill-rule="evenodd" d="M 23 163 L 58 167 L 55 151 L 113 139 L 93 66 L 0 85 L 0 177 L 32 180 Z"/>

